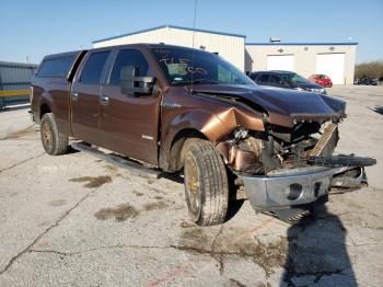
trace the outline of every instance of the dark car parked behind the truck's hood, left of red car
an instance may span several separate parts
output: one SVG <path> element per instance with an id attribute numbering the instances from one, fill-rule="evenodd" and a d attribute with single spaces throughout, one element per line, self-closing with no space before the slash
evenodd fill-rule
<path id="1" fill-rule="evenodd" d="M 252 72 L 249 78 L 259 85 L 326 94 L 326 90 L 322 85 L 311 83 L 302 76 L 292 71 L 256 71 Z"/>

